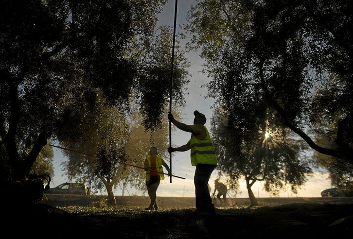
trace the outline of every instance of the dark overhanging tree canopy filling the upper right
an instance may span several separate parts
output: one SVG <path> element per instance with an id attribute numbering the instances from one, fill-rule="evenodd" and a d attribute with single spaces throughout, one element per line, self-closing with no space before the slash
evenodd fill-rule
<path id="1" fill-rule="evenodd" d="M 190 47 L 202 49 L 209 96 L 238 130 L 239 147 L 267 120 L 353 163 L 352 9 L 349 0 L 199 0 L 192 8 Z M 306 129 L 323 130 L 334 147 Z"/>

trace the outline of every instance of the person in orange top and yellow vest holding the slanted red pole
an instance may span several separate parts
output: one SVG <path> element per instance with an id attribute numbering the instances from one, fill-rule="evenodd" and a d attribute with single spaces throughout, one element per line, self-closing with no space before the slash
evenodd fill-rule
<path id="1" fill-rule="evenodd" d="M 152 146 L 150 148 L 150 155 L 144 160 L 144 170 L 146 171 L 146 186 L 148 196 L 151 199 L 149 207 L 145 208 L 145 210 L 158 210 L 156 192 L 160 180 L 164 179 L 162 165 L 169 173 L 168 165 L 158 155 L 157 148 Z"/>

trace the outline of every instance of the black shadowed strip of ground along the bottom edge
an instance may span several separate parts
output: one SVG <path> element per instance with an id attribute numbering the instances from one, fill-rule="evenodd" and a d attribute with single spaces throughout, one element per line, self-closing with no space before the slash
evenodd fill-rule
<path id="1" fill-rule="evenodd" d="M 115 228 L 115 236 L 123 238 L 346 238 L 353 232 L 352 198 L 350 201 L 331 198 L 328 203 L 216 209 L 216 215 L 202 217 L 195 217 L 194 209 L 188 208 L 145 211 L 141 207 L 118 206 L 85 212 L 79 207 L 71 212 L 71 207 L 62 210 L 42 204 L 18 205 L 5 209 L 3 216 L 7 220 L 2 224 L 2 235 L 37 235 L 35 229 L 40 226 L 40 233 L 57 239 L 68 235 L 105 238 L 112 233 L 107 228 Z M 12 219 L 23 215 L 31 220 L 14 230 Z"/>

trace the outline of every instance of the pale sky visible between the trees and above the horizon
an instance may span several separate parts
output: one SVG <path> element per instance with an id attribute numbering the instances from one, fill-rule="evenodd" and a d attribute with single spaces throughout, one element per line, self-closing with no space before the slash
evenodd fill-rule
<path id="1" fill-rule="evenodd" d="M 177 25 L 176 25 L 176 34 L 179 33 L 180 27 L 183 22 L 185 22 L 186 13 L 190 10 L 190 6 L 194 5 L 194 0 L 178 0 L 178 8 L 177 8 Z M 174 24 L 174 7 L 175 1 L 170 0 L 164 7 L 163 11 L 159 14 L 159 24 L 166 24 L 169 26 L 173 26 Z M 172 36 L 171 36 L 172 37 Z M 188 38 L 182 40 L 181 46 L 187 42 Z M 187 69 L 189 74 L 192 76 L 189 77 L 190 83 L 187 86 L 188 90 L 185 93 L 185 101 L 186 105 L 182 108 L 183 112 L 183 122 L 186 124 L 193 124 L 194 115 L 193 112 L 198 110 L 203 113 L 207 122 L 205 126 L 210 129 L 210 120 L 212 117 L 212 109 L 211 106 L 214 104 L 214 99 L 206 98 L 207 88 L 200 87 L 205 85 L 210 81 L 207 75 L 202 74 L 200 71 L 202 70 L 202 64 L 204 60 L 199 57 L 199 52 L 188 52 L 186 58 L 190 61 L 190 67 Z M 172 144 L 174 147 L 178 147 L 187 143 L 190 139 L 190 133 L 183 132 L 181 130 L 176 130 L 172 133 Z M 62 183 L 67 182 L 67 178 L 63 176 L 63 170 L 61 163 L 66 160 L 59 149 L 53 148 L 54 150 L 54 159 L 53 159 L 53 168 L 54 168 L 54 177 L 51 182 L 51 187 L 56 187 Z M 160 149 L 159 149 L 160 150 Z M 172 183 L 169 182 L 169 178 L 166 177 L 165 180 L 162 180 L 159 188 L 157 190 L 157 196 L 164 197 L 194 197 L 194 171 L 195 167 L 191 165 L 190 162 L 190 152 L 176 152 L 172 154 L 172 170 L 173 174 L 181 177 L 185 177 L 186 179 L 174 178 L 172 179 Z M 143 160 L 143 159 L 141 159 Z M 212 188 L 212 192 L 214 190 L 214 180 L 220 177 L 220 182 L 225 182 L 225 178 L 219 176 L 218 171 L 213 171 L 209 184 Z M 289 187 L 289 186 L 288 186 Z M 314 173 L 313 177 L 309 177 L 308 181 L 301 189 L 298 190 L 298 194 L 293 194 L 291 191 L 283 190 L 276 197 L 321 197 L 320 192 L 323 189 L 331 188 L 331 183 L 328 178 L 327 173 Z M 267 193 L 263 190 L 263 185 L 259 182 L 256 182 L 252 186 L 253 193 L 255 197 L 274 197 L 273 195 Z M 98 194 L 106 194 L 104 191 L 98 192 Z M 137 191 L 134 188 L 127 187 L 124 195 L 132 195 L 137 194 L 141 195 L 141 192 Z M 228 192 L 231 197 L 248 197 L 247 188 L 245 181 L 240 182 L 240 188 L 238 194 L 235 194 L 233 191 Z M 122 195 L 122 187 L 118 186 L 115 189 L 115 195 Z M 145 194 L 147 195 L 147 194 Z"/>

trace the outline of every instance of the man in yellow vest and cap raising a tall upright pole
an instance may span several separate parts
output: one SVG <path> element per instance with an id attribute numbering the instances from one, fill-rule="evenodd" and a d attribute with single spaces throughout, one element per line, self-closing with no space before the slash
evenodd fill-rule
<path id="1" fill-rule="evenodd" d="M 210 134 L 204 125 L 205 115 L 196 110 L 194 116 L 194 124 L 187 125 L 175 120 L 174 116 L 169 113 L 168 119 L 180 130 L 191 133 L 191 139 L 178 148 L 169 147 L 168 151 L 171 153 L 191 150 L 191 165 L 196 166 L 194 175 L 196 214 L 214 215 L 215 209 L 207 185 L 212 171 L 217 166 L 216 155 Z"/>

